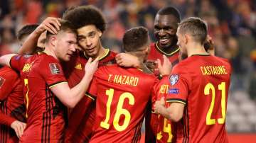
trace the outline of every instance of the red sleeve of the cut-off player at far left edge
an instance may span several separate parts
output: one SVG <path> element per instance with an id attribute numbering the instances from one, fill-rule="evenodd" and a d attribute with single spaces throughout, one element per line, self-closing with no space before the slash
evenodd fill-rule
<path id="1" fill-rule="evenodd" d="M 18 74 L 9 67 L 3 67 L 0 71 L 0 101 L 4 101 L 16 86 Z"/>

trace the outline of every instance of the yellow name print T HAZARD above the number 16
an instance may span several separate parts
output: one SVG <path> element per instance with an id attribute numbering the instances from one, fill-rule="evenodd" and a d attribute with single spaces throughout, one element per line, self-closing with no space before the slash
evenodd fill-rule
<path id="1" fill-rule="evenodd" d="M 139 78 L 134 76 L 109 74 L 109 78 L 107 81 L 113 82 L 115 84 L 126 84 L 130 86 L 137 86 L 139 82 Z"/>

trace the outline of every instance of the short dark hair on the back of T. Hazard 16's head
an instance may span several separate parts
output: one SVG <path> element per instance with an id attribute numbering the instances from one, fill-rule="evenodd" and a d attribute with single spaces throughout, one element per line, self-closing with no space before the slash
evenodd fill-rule
<path id="1" fill-rule="evenodd" d="M 149 32 L 142 26 L 131 28 L 124 33 L 122 42 L 126 52 L 136 52 L 149 43 Z"/>

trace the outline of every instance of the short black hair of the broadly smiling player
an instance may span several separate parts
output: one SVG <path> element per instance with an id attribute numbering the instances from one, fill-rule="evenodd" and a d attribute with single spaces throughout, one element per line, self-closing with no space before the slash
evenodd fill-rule
<path id="1" fill-rule="evenodd" d="M 157 14 L 159 15 L 173 15 L 178 19 L 178 22 L 181 22 L 181 14 L 179 13 L 178 9 L 174 8 L 173 6 L 166 6 L 161 8 Z"/>

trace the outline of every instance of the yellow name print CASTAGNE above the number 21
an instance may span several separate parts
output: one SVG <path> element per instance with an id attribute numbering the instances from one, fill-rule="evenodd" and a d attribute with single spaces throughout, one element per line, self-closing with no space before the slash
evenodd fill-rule
<path id="1" fill-rule="evenodd" d="M 228 74 L 225 66 L 202 66 L 200 67 L 203 75 Z"/>

